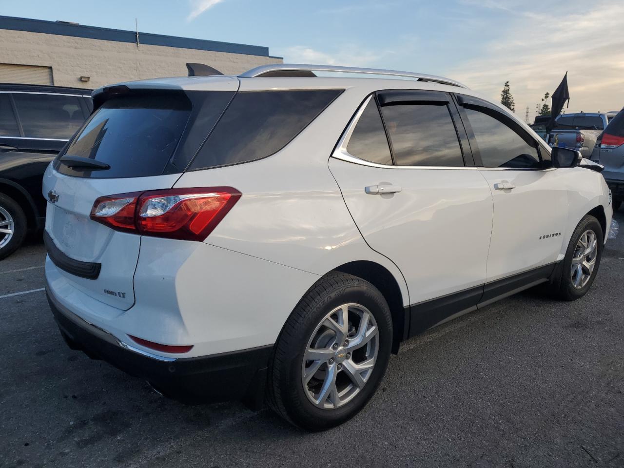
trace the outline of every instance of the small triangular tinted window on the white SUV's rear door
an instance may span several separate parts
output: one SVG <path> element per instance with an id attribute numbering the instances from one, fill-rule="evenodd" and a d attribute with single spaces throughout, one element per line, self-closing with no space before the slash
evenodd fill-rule
<path id="1" fill-rule="evenodd" d="M 347 152 L 357 158 L 378 164 L 392 164 L 390 147 L 381 115 L 374 99 L 369 100 L 359 117 L 347 145 Z"/>

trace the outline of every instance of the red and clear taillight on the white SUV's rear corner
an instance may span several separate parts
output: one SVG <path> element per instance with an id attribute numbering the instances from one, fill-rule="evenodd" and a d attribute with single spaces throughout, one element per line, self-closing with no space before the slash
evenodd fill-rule
<path id="1" fill-rule="evenodd" d="M 90 218 L 118 231 L 202 241 L 240 195 L 232 187 L 121 193 L 95 200 Z"/>

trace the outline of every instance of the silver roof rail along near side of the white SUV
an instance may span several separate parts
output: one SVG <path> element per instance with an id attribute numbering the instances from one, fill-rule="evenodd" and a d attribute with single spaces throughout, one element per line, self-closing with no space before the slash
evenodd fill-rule
<path id="1" fill-rule="evenodd" d="M 311 72 L 338 72 L 338 73 L 362 73 L 369 75 L 401 76 L 416 78 L 419 81 L 431 81 L 439 84 L 447 84 L 467 88 L 456 80 L 443 76 L 427 75 L 424 73 L 400 72 L 396 70 L 384 70 L 376 68 L 338 67 L 334 65 L 302 65 L 302 64 L 272 64 L 253 68 L 238 75 L 241 78 L 276 77 L 276 76 L 310 76 Z M 299 74 L 299 73 L 301 74 Z"/>

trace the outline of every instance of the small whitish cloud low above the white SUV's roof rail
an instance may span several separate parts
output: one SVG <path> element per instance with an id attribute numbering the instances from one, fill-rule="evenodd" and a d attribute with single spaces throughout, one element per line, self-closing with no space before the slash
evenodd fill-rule
<path id="1" fill-rule="evenodd" d="M 291 46 L 276 49 L 276 53 L 284 57 L 285 63 L 370 67 L 394 52 L 373 51 L 358 46 L 344 46 L 337 51 L 324 52 L 308 46 Z"/>

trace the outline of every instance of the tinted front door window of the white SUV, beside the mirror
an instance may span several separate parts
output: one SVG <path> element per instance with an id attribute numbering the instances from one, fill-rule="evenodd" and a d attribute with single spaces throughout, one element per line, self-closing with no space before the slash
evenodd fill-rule
<path id="1" fill-rule="evenodd" d="M 494 117 L 466 109 L 484 167 L 540 167 L 535 147 Z"/>

